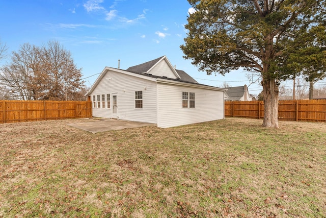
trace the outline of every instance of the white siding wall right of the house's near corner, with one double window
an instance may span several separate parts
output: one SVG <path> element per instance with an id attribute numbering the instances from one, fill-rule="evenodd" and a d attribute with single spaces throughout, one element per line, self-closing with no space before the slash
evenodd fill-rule
<path id="1" fill-rule="evenodd" d="M 195 108 L 182 108 L 182 92 L 195 92 Z M 157 126 L 162 128 L 224 118 L 223 91 L 158 84 Z"/>

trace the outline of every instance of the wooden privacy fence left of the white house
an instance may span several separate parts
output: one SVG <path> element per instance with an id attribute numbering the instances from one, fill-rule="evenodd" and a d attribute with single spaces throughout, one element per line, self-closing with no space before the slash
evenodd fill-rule
<path id="1" fill-rule="evenodd" d="M 92 117 L 92 102 L 0 101 L 0 124 Z"/>

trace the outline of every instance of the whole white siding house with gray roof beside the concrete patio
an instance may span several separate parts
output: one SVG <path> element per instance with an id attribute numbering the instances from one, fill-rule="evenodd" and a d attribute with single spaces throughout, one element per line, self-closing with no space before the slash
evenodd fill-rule
<path id="1" fill-rule="evenodd" d="M 90 91 L 93 116 L 168 128 L 224 118 L 225 89 L 197 83 L 166 56 L 129 67 L 105 67 Z"/>

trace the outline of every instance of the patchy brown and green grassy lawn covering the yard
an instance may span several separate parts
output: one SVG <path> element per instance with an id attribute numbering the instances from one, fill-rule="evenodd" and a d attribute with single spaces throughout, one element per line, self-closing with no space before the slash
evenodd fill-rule
<path id="1" fill-rule="evenodd" d="M 0 217 L 326 217 L 326 124 L 0 124 Z"/>

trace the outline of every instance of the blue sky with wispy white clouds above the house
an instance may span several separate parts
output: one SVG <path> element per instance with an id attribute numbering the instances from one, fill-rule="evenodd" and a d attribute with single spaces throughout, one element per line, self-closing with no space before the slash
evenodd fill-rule
<path id="1" fill-rule="evenodd" d="M 59 41 L 82 67 L 91 86 L 105 66 L 126 69 L 166 55 L 177 69 L 199 83 L 249 85 L 242 70 L 226 76 L 198 71 L 182 58 L 188 10 L 186 0 L 3 0 L 0 3 L 0 39 L 11 51 L 24 43 Z M 6 63 L 3 60 L 0 64 Z M 95 76 L 92 76 L 95 75 Z M 249 86 L 258 94 L 262 87 Z"/>

